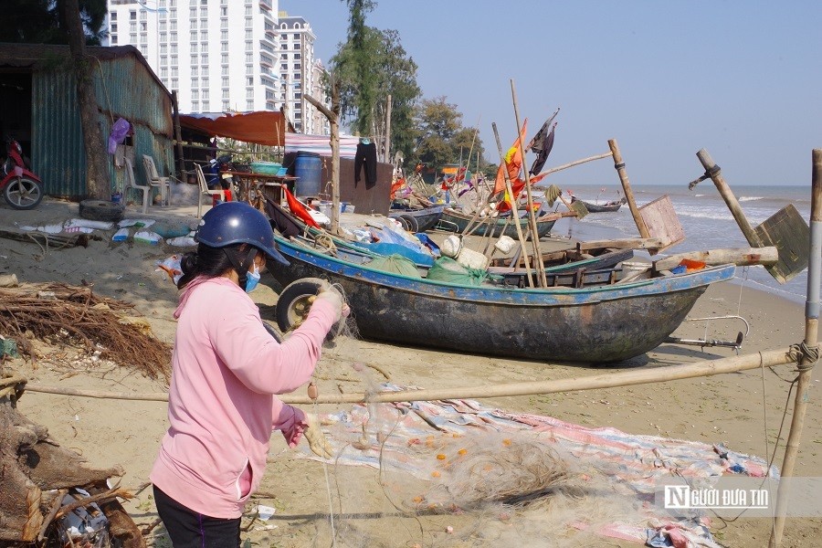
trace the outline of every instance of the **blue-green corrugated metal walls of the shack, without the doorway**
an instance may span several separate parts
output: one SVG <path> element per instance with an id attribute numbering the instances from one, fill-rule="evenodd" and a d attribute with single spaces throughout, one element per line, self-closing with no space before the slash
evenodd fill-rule
<path id="1" fill-rule="evenodd" d="M 100 130 L 107 147 L 113 121 L 125 118 L 134 128 L 134 165 L 143 182 L 142 154 L 151 154 L 161 174 L 174 173 L 171 97 L 133 55 L 94 60 L 94 83 L 100 110 Z M 81 199 L 86 191 L 86 154 L 79 119 L 77 88 L 64 67 L 49 66 L 32 75 L 32 150 L 34 172 L 47 195 Z M 109 164 L 111 190 L 121 190 L 122 168 L 113 156 Z"/>

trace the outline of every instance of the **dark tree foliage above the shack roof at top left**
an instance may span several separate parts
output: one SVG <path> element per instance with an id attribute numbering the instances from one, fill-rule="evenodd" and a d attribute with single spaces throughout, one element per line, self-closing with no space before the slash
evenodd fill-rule
<path id="1" fill-rule="evenodd" d="M 68 23 L 62 15 L 66 0 L 4 0 L 0 42 L 68 44 Z M 86 44 L 100 45 L 105 36 L 106 0 L 79 0 Z"/>

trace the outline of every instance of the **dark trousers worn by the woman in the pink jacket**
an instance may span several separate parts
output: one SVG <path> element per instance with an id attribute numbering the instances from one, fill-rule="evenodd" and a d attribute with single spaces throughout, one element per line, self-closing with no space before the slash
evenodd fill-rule
<path id="1" fill-rule="evenodd" d="M 237 548 L 240 519 L 211 518 L 189 510 L 154 487 L 154 503 L 174 548 Z"/>

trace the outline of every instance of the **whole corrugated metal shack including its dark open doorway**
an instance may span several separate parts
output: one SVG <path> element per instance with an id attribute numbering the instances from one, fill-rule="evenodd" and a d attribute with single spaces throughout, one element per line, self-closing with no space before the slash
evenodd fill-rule
<path id="1" fill-rule="evenodd" d="M 145 182 L 142 154 L 153 156 L 161 174 L 173 174 L 172 99 L 163 82 L 135 47 L 87 47 L 87 53 L 103 139 L 124 118 L 134 134 L 122 150 L 132 158 L 137 182 Z M 86 159 L 70 66 L 68 46 L 0 44 L 0 135 L 21 143 L 47 195 L 77 200 L 87 196 Z M 120 191 L 124 172 L 110 158 L 111 190 Z"/>

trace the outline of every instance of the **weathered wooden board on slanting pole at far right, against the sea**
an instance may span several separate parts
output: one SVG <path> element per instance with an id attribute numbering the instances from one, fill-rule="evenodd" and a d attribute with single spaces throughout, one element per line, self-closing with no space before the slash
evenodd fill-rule
<path id="1" fill-rule="evenodd" d="M 775 246 L 779 260 L 765 269 L 779 283 L 785 283 L 807 268 L 810 228 L 793 204 L 785 205 L 754 228 L 764 246 Z"/>

